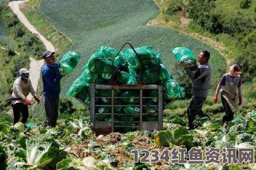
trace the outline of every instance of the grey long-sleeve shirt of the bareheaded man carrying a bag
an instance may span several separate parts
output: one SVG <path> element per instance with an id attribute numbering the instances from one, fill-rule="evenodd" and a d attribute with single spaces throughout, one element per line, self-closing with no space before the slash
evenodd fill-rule
<path id="1" fill-rule="evenodd" d="M 200 97 L 207 97 L 211 81 L 211 67 L 209 63 L 200 64 L 198 62 L 195 71 L 191 71 L 189 68 L 185 68 L 185 71 L 193 81 L 193 94 Z"/>

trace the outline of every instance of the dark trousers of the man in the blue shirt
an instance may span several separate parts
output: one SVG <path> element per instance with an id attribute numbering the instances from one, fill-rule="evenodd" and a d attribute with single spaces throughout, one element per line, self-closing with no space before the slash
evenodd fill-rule
<path id="1" fill-rule="evenodd" d="M 56 126 L 58 119 L 59 96 L 44 96 L 45 97 L 45 126 Z"/>

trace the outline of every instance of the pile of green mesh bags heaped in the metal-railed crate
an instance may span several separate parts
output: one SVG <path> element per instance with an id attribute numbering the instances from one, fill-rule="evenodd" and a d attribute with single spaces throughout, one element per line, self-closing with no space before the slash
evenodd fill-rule
<path id="1" fill-rule="evenodd" d="M 90 84 L 161 84 L 163 85 L 163 100 L 165 104 L 171 100 L 183 97 L 184 89 L 181 88 L 172 73 L 163 65 L 159 52 L 155 52 L 151 46 L 135 48 L 136 53 L 131 48 L 126 48 L 125 52 L 120 52 L 113 60 L 118 50 L 101 46 L 97 52 L 90 56 L 87 64 L 83 67 L 83 73 L 73 82 L 67 91 L 67 96 L 79 97 L 84 103 L 90 104 Z M 95 101 L 96 104 L 111 104 L 111 90 L 97 90 L 95 96 L 101 99 Z M 158 91 L 144 90 L 143 96 L 155 97 L 143 100 L 143 121 L 158 121 L 158 117 L 153 115 L 158 113 Z M 115 89 L 115 97 L 125 97 L 115 99 L 115 104 L 127 105 L 116 106 L 115 113 L 129 114 L 127 116 L 115 115 L 115 121 L 139 121 L 140 113 L 140 92 L 139 90 Z M 134 106 L 135 105 L 135 106 Z M 102 111 L 103 110 L 103 111 Z M 95 113 L 111 113 L 111 107 L 95 108 Z M 135 114 L 135 115 L 131 115 Z M 152 115 L 152 117 L 150 116 Z M 111 121 L 109 115 L 95 116 L 97 121 Z"/>

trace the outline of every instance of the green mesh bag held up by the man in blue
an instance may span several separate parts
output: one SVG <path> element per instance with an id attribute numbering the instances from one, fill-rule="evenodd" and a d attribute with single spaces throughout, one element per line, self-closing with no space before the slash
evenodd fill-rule
<path id="1" fill-rule="evenodd" d="M 75 52 L 67 52 L 62 56 L 59 67 L 63 68 L 63 73 L 69 74 L 74 70 L 79 60 L 80 55 Z"/>

